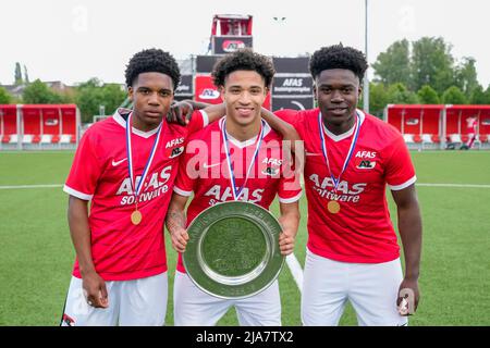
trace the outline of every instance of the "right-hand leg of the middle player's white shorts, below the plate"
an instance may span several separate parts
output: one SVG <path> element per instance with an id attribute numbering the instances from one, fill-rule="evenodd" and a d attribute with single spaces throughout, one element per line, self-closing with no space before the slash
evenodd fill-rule
<path id="1" fill-rule="evenodd" d="M 264 291 L 235 301 L 242 326 L 281 326 L 281 298 L 278 281 Z"/>

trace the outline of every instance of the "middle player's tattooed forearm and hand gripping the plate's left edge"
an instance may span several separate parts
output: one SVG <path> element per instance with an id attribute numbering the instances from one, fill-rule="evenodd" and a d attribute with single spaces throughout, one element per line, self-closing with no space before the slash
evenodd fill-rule
<path id="1" fill-rule="evenodd" d="M 177 252 L 184 252 L 188 241 L 188 234 L 185 228 L 185 204 L 187 199 L 187 196 L 174 192 L 167 211 L 167 229 L 172 240 L 172 248 Z"/>

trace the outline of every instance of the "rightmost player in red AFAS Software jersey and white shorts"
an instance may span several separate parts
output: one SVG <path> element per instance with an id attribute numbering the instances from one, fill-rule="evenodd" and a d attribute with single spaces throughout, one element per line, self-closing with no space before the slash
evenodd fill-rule
<path id="1" fill-rule="evenodd" d="M 419 300 L 421 250 L 411 156 L 394 127 L 356 109 L 367 69 L 360 51 L 321 48 L 309 69 L 319 108 L 277 112 L 294 125 L 306 152 L 303 324 L 336 325 L 350 300 L 359 325 L 406 325 Z M 396 204 L 405 275 L 385 185 Z"/>

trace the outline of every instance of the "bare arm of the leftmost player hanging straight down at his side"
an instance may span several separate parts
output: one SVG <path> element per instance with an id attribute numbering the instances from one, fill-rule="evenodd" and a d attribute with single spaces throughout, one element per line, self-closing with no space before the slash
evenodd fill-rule
<path id="1" fill-rule="evenodd" d="M 88 201 L 70 195 L 68 220 L 73 246 L 78 258 L 83 289 L 88 304 L 96 308 L 109 306 L 106 282 L 97 274 L 91 258 Z"/>

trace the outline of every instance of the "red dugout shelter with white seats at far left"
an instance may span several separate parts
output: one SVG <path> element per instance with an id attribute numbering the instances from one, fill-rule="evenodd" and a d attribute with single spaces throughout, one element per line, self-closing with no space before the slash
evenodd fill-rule
<path id="1" fill-rule="evenodd" d="M 79 125 L 75 104 L 0 104 L 0 149 L 74 149 Z"/>

